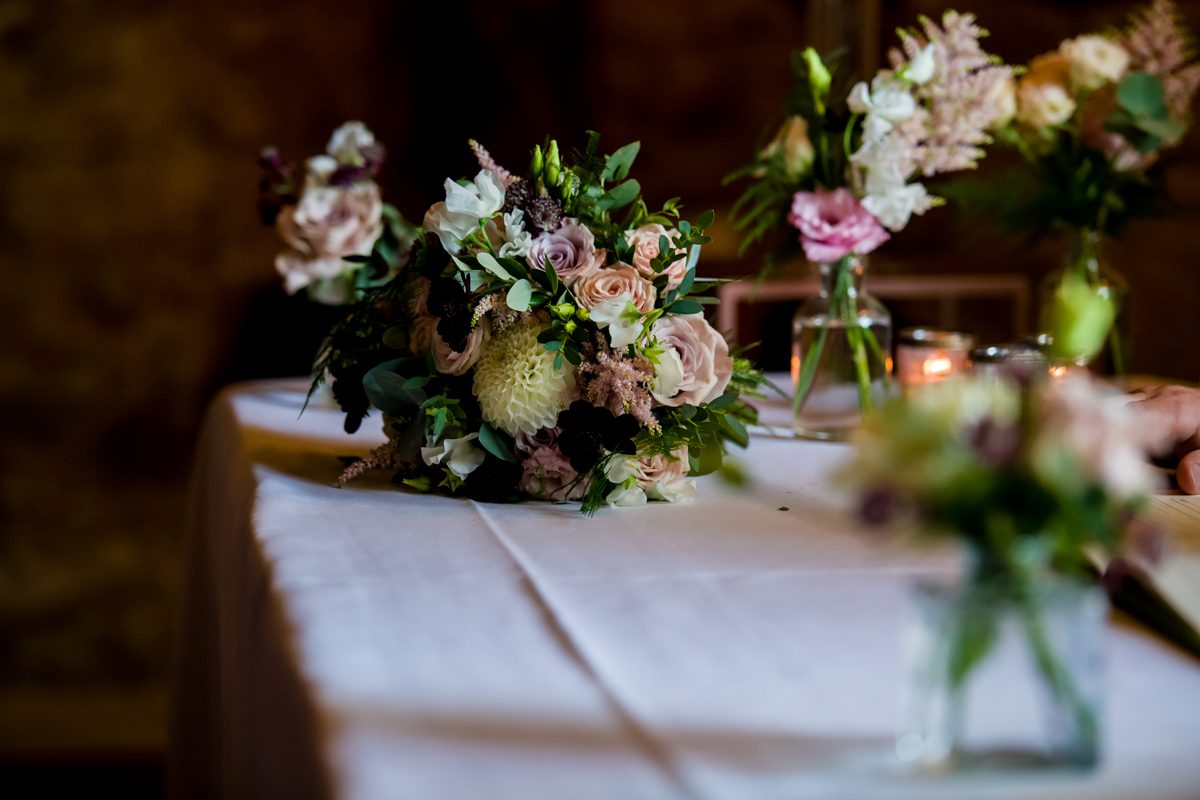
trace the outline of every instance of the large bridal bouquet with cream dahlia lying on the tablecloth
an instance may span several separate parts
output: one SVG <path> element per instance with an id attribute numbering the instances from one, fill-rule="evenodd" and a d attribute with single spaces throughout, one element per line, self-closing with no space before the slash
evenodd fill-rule
<path id="1" fill-rule="evenodd" d="M 548 140 L 515 174 L 472 142 L 479 172 L 445 200 L 402 271 L 370 291 L 317 365 L 355 429 L 388 443 L 352 464 L 418 491 L 488 500 L 688 499 L 726 441 L 745 446 L 761 374 L 703 315 L 696 276 L 712 211 L 650 211 L 629 178 L 640 145 L 570 162 Z"/>

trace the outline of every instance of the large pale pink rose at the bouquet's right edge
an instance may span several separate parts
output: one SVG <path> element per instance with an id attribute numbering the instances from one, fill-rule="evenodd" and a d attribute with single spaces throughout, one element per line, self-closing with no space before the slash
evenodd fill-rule
<path id="1" fill-rule="evenodd" d="M 703 314 L 670 314 L 650 330 L 666 349 L 660 360 L 672 365 L 670 386 L 655 380 L 654 399 L 664 405 L 700 405 L 725 392 L 733 374 L 730 345 Z"/>

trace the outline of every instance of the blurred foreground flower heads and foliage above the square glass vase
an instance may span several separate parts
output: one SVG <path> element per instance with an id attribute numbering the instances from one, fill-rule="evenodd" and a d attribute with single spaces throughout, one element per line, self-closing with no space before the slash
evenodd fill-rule
<path id="1" fill-rule="evenodd" d="M 960 379 L 868 416 L 844 480 L 864 521 L 959 537 L 980 577 L 1079 573 L 1085 547 L 1112 551 L 1154 488 L 1136 441 L 1123 398 L 1082 375 Z"/>

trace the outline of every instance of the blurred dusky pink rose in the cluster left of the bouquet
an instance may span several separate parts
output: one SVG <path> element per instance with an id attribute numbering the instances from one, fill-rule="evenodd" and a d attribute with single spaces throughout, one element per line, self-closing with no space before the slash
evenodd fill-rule
<path id="1" fill-rule="evenodd" d="M 310 179 L 296 205 L 275 222 L 288 249 L 275 258 L 288 294 L 310 283 L 350 272 L 347 255 L 366 255 L 383 233 L 383 199 L 372 182 L 323 186 Z"/>

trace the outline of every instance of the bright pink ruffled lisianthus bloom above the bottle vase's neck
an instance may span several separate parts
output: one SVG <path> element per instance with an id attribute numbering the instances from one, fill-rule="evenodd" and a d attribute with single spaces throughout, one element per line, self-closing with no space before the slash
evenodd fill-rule
<path id="1" fill-rule="evenodd" d="M 889 237 L 848 188 L 797 192 L 787 221 L 800 231 L 804 254 L 817 264 L 829 264 L 851 253 L 865 255 Z"/>

